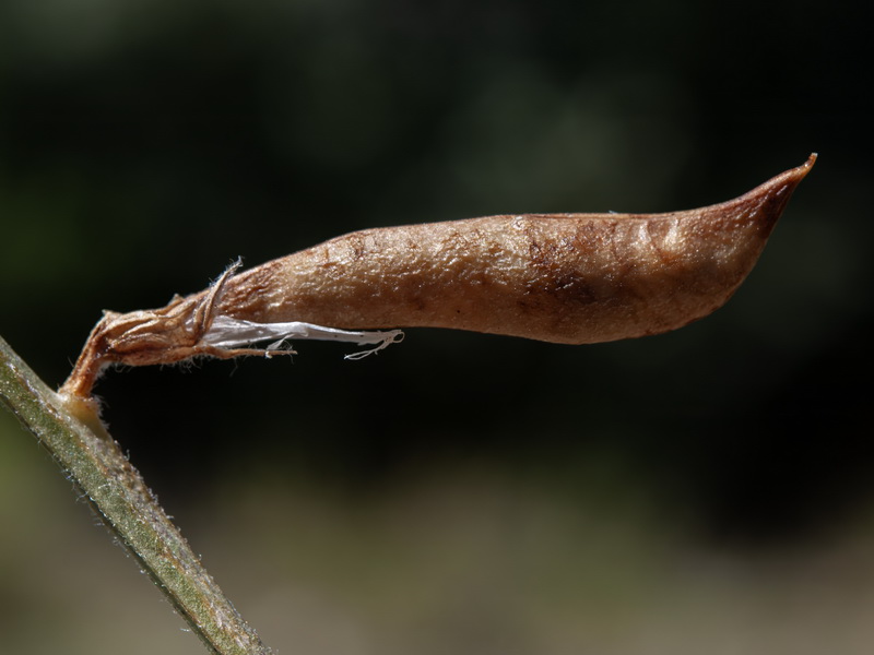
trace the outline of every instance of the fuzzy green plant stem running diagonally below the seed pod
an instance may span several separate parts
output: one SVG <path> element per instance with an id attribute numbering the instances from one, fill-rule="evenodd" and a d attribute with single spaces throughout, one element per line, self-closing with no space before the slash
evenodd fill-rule
<path id="1" fill-rule="evenodd" d="M 97 417 L 66 403 L 1 337 L 0 398 L 51 453 L 212 653 L 271 652 L 206 573 Z"/>

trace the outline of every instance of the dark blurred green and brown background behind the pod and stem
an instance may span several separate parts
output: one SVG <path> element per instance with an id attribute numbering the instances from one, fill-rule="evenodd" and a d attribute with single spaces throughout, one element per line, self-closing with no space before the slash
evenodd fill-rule
<path id="1" fill-rule="evenodd" d="M 689 209 L 818 152 L 746 284 L 678 332 L 410 330 L 358 362 L 298 342 L 293 364 L 110 371 L 97 393 L 281 653 L 866 652 L 862 8 L 5 0 L 0 334 L 57 385 L 102 309 L 238 255 Z M 0 415 L 10 652 L 200 652 L 68 487 Z"/>

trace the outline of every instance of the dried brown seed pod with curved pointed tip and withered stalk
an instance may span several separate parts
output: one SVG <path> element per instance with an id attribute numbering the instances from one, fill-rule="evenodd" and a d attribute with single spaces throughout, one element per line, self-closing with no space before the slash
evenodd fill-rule
<path id="1" fill-rule="evenodd" d="M 376 350 L 400 332 L 362 331 L 451 327 L 588 344 L 674 330 L 731 297 L 815 160 L 698 210 L 365 229 L 244 273 L 235 265 L 165 308 L 105 312 L 60 391 L 87 398 L 113 362 L 270 356 L 275 344 L 237 347 L 268 338 L 340 338 Z"/>

